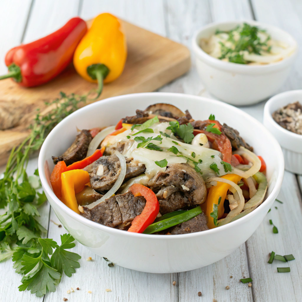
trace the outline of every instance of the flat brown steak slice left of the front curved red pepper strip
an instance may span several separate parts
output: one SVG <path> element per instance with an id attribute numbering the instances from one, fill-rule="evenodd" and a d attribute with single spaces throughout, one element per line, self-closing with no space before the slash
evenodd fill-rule
<path id="1" fill-rule="evenodd" d="M 146 205 L 143 196 L 134 197 L 131 192 L 112 196 L 92 209 L 83 207 L 82 216 L 105 226 L 126 228 L 140 215 Z"/>

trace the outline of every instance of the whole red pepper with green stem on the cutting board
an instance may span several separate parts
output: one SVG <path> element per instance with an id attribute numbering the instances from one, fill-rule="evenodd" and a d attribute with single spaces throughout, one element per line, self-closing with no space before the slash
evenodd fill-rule
<path id="1" fill-rule="evenodd" d="M 13 78 L 24 87 L 50 81 L 71 63 L 86 31 L 86 22 L 76 17 L 46 37 L 12 48 L 5 56 L 9 72 L 0 80 Z"/>

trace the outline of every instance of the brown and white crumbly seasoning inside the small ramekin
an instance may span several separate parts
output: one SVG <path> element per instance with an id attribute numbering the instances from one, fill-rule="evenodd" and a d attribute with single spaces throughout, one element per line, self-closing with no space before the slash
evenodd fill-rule
<path id="1" fill-rule="evenodd" d="M 284 129 L 302 134 L 302 105 L 298 101 L 279 108 L 272 117 Z"/>

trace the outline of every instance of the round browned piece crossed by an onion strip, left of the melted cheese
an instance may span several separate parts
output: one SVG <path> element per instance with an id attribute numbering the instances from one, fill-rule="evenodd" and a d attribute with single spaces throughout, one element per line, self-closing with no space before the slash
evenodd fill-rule
<path id="1" fill-rule="evenodd" d="M 146 171 L 145 165 L 132 161 L 132 158 L 126 158 L 125 179 L 138 176 Z M 90 185 L 97 191 L 108 191 L 116 182 L 120 175 L 120 160 L 113 154 L 102 156 L 85 169 L 90 173 Z"/>

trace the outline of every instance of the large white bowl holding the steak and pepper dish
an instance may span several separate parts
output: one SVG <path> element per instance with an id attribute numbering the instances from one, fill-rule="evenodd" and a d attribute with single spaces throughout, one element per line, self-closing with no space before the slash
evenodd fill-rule
<path id="1" fill-rule="evenodd" d="M 54 165 L 52 155 L 63 153 L 73 142 L 77 130 L 113 125 L 136 109 L 145 109 L 154 103 L 170 103 L 182 110 L 188 109 L 193 118 L 207 119 L 215 114 L 239 130 L 257 154 L 266 161 L 268 192 L 266 200 L 252 213 L 230 224 L 199 233 L 183 235 L 146 235 L 110 228 L 66 207 L 53 193 L 45 171 Z M 54 212 L 80 243 L 96 254 L 117 265 L 137 271 L 172 273 L 188 271 L 214 263 L 229 255 L 255 232 L 280 190 L 284 159 L 275 138 L 261 123 L 245 112 L 220 101 L 176 93 L 139 93 L 108 98 L 88 105 L 66 117 L 48 135 L 40 151 L 39 173 L 45 194 Z"/>

